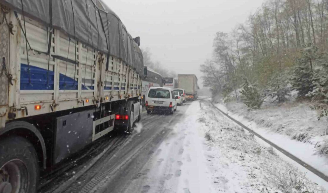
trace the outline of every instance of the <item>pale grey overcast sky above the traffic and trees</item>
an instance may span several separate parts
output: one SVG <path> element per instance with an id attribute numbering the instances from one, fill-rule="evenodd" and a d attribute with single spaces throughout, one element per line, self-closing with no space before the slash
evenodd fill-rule
<path id="1" fill-rule="evenodd" d="M 104 0 L 152 59 L 179 74 L 202 73 L 218 31 L 244 23 L 264 0 Z M 198 83 L 201 86 L 201 83 Z"/>

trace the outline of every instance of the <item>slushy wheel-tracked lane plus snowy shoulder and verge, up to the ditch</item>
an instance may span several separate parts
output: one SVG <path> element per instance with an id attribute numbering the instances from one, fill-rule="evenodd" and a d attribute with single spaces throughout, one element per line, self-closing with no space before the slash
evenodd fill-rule
<path id="1" fill-rule="evenodd" d="M 144 113 L 131 135 L 111 135 L 90 158 L 46 176 L 39 192 L 325 192 L 208 100 Z"/>

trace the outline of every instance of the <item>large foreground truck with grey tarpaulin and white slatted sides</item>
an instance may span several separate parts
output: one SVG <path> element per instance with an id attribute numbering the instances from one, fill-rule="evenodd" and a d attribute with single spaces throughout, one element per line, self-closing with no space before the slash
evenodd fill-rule
<path id="1" fill-rule="evenodd" d="M 140 39 L 101 0 L 0 0 L 0 21 L 0 192 L 33 193 L 40 169 L 141 119 Z"/>

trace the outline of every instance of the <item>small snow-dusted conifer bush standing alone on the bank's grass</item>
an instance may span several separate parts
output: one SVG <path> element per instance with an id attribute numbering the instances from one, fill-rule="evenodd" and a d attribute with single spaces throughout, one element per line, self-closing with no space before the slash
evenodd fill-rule
<path id="1" fill-rule="evenodd" d="M 247 80 L 244 86 L 242 87 L 240 94 L 241 94 L 241 99 L 243 100 L 244 104 L 248 107 L 248 109 L 261 108 L 263 99 L 260 93 L 257 91 L 257 88 L 252 85 L 249 85 Z"/>

